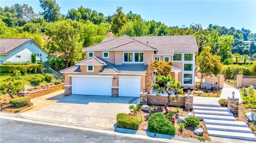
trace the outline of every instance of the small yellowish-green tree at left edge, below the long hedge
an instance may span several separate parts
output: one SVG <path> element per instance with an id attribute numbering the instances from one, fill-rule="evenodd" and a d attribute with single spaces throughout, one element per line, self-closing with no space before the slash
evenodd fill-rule
<path id="1" fill-rule="evenodd" d="M 8 76 L 2 79 L 0 84 L 1 94 L 9 94 L 11 98 L 14 98 L 14 94 L 21 91 L 23 84 L 21 80 L 16 80 L 15 77 Z"/>

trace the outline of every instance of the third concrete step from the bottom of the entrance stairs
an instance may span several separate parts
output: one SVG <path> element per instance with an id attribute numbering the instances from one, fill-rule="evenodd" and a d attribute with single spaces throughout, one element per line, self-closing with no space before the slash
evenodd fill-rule
<path id="1" fill-rule="evenodd" d="M 247 123 L 245 123 L 243 121 L 226 121 L 226 120 L 216 120 L 216 119 L 204 119 L 204 124 L 248 127 Z"/>

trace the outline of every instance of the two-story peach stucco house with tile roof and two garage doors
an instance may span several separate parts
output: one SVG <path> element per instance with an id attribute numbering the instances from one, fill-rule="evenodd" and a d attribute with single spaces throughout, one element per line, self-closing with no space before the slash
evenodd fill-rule
<path id="1" fill-rule="evenodd" d="M 150 61 L 173 61 L 170 75 L 184 88 L 194 88 L 195 53 L 193 35 L 112 37 L 85 47 L 87 59 L 64 69 L 65 94 L 140 97 L 143 88 L 152 91 Z"/>

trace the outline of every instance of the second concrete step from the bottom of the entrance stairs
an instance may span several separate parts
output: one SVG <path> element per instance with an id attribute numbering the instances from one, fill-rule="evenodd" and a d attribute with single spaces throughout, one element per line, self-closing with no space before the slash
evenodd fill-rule
<path id="1" fill-rule="evenodd" d="M 228 125 L 205 125 L 207 130 L 217 130 L 217 131 L 229 131 L 229 132 L 240 132 L 240 133 L 252 133 L 248 127 L 236 127 L 236 126 L 228 126 Z"/>

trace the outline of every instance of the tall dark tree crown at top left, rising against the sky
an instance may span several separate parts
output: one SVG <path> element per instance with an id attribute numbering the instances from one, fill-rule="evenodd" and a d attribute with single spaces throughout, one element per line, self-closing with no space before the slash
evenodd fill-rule
<path id="1" fill-rule="evenodd" d="M 44 10 L 42 16 L 47 22 L 55 22 L 60 19 L 60 7 L 55 0 L 39 0 L 41 8 Z"/>

